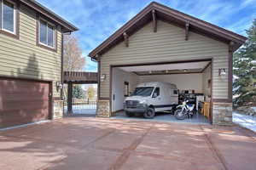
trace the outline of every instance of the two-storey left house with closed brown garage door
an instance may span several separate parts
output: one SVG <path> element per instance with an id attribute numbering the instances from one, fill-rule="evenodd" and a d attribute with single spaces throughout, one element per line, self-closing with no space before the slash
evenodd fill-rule
<path id="1" fill-rule="evenodd" d="M 78 29 L 37 1 L 0 3 L 0 127 L 61 117 L 63 34 Z"/>

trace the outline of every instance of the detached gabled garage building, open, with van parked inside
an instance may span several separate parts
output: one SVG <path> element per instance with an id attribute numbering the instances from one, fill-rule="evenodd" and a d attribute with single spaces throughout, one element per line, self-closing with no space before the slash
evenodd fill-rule
<path id="1" fill-rule="evenodd" d="M 203 94 L 213 124 L 232 122 L 232 57 L 246 37 L 150 3 L 90 52 L 98 62 L 97 116 L 123 109 L 139 82 L 172 82 Z M 128 89 L 128 92 L 125 90 Z"/>

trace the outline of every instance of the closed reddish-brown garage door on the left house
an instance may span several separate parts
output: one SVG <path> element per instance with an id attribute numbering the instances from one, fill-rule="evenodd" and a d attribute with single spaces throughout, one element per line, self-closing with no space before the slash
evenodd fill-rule
<path id="1" fill-rule="evenodd" d="M 49 119 L 49 82 L 0 77 L 0 127 Z"/>

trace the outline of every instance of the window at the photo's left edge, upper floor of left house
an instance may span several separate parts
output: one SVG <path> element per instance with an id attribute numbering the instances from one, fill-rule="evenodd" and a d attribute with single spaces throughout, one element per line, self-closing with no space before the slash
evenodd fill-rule
<path id="1" fill-rule="evenodd" d="M 9 0 L 0 0 L 0 30 L 16 34 L 16 5 Z"/>

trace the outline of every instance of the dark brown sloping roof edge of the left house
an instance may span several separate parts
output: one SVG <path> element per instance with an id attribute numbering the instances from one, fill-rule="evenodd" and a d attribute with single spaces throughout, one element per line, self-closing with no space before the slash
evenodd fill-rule
<path id="1" fill-rule="evenodd" d="M 38 3 L 36 0 L 20 0 L 20 3 L 26 4 L 26 6 L 33 8 L 38 13 L 43 14 L 50 20 L 55 21 L 57 24 L 63 27 L 64 32 L 79 30 L 76 26 L 73 26 L 73 24 L 71 24 L 67 20 L 64 20 L 63 18 L 61 18 L 61 16 L 55 14 L 54 12 L 49 10 L 49 8 L 44 7 L 41 3 Z"/>

